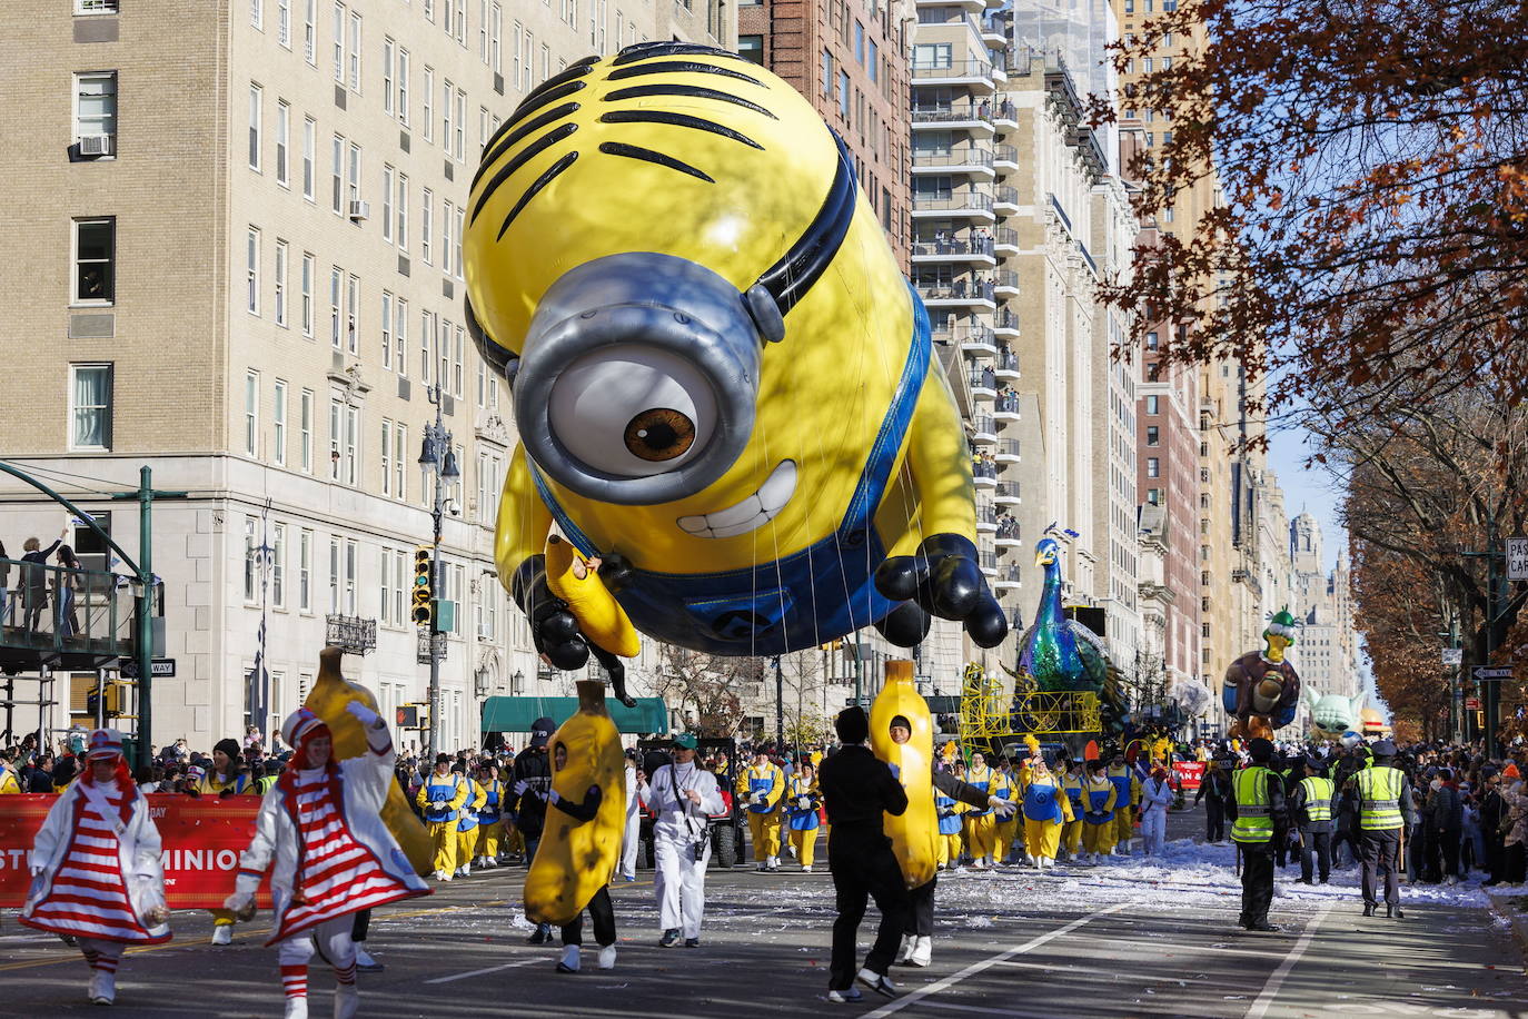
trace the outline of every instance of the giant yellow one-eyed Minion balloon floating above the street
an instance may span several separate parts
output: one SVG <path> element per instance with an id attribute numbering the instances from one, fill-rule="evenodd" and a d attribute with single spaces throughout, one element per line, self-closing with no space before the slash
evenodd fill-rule
<path id="1" fill-rule="evenodd" d="M 1002 640 L 927 315 L 788 84 L 689 43 L 582 60 L 489 139 L 463 243 L 521 435 L 500 577 L 553 665 L 619 680 L 547 588 L 553 522 L 640 632 L 695 651 L 871 623 L 911 646 L 931 613 Z"/>

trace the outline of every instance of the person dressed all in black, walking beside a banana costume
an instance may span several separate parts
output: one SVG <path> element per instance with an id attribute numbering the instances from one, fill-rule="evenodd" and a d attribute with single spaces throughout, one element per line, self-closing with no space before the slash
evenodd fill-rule
<path id="1" fill-rule="evenodd" d="M 837 897 L 839 918 L 833 921 L 833 956 L 828 964 L 828 1001 L 859 1001 L 856 978 L 871 990 L 894 998 L 895 985 L 886 976 L 902 932 L 908 929 L 911 901 L 902 866 L 886 837 L 883 814 L 900 816 L 908 810 L 908 793 L 885 761 L 865 746 L 869 718 L 863 707 L 847 707 L 833 723 L 842 749 L 822 762 L 817 788 L 833 825 L 828 842 L 828 871 Z M 868 898 L 880 909 L 876 944 L 856 973 L 856 938 L 865 918 Z"/>

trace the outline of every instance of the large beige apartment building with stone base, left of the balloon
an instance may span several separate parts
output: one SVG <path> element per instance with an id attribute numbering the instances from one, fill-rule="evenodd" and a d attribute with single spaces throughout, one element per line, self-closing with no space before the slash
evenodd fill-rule
<path id="1" fill-rule="evenodd" d="M 477 153 L 535 84 L 591 52 L 733 46 L 717 0 L 72 0 L 0 14 L 12 180 L 0 283 L 8 458 L 76 498 L 136 553 L 105 493 L 148 464 L 188 498 L 154 512 L 165 652 L 156 741 L 243 730 L 258 632 L 270 717 L 301 703 L 336 625 L 384 713 L 425 698 L 406 613 L 431 541 L 423 426 L 439 394 L 460 481 L 437 594 L 457 607 L 442 742 L 478 735 L 489 694 L 541 677 L 494 576 L 509 397 L 461 315 Z M 58 513 L 0 487 L 12 544 Z M 92 677 L 93 678 L 93 677 Z M 75 684 L 78 687 L 78 683 Z M 66 707 L 43 709 L 50 727 Z M 26 720 L 21 720 L 21 727 Z"/>

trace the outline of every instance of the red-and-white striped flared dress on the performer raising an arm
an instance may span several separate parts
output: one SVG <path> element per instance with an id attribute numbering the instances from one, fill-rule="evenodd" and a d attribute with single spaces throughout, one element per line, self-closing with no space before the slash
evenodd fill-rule
<path id="1" fill-rule="evenodd" d="M 267 944 L 316 927 L 329 920 L 373 909 L 399 898 L 426 894 L 391 877 L 376 856 L 345 825 L 341 779 L 316 768 L 298 772 L 295 819 L 301 851 L 292 904 Z"/>

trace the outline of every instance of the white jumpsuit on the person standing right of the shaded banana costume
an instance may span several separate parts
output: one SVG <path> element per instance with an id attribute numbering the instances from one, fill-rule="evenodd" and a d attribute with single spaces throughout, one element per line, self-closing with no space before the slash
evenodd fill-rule
<path id="1" fill-rule="evenodd" d="M 685 794 L 694 790 L 700 804 Z M 717 776 L 694 764 L 665 764 L 637 790 L 652 811 L 652 856 L 657 866 L 659 927 L 700 937 L 706 911 L 706 863 L 711 860 L 707 814 L 723 810 Z M 704 843 L 701 857 L 694 846 Z"/>

